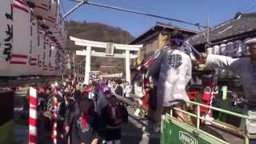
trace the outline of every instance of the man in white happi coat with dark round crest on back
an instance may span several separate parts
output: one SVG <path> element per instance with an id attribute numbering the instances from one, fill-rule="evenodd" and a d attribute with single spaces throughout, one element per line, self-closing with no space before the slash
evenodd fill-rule
<path id="1" fill-rule="evenodd" d="M 182 46 L 184 48 L 184 44 Z M 158 75 L 155 126 L 160 123 L 163 111 L 170 113 L 173 107 L 182 108 L 184 101 L 189 100 L 186 85 L 190 82 L 192 64 L 190 55 L 181 50 L 182 46 L 167 47 L 158 55 L 158 58 L 154 59 L 154 64 L 149 68 L 149 75 L 153 77 Z M 174 112 L 178 119 L 186 121 L 184 114 Z"/>

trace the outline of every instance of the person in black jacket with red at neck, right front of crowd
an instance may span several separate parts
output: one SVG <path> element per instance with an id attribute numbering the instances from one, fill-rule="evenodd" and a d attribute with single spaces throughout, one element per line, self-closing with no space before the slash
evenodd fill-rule
<path id="1" fill-rule="evenodd" d="M 110 104 L 102 109 L 102 121 L 106 124 L 103 139 L 107 144 L 121 143 L 122 123 L 128 122 L 128 112 L 126 108 L 118 103 L 118 99 L 112 94 L 108 98 Z"/>

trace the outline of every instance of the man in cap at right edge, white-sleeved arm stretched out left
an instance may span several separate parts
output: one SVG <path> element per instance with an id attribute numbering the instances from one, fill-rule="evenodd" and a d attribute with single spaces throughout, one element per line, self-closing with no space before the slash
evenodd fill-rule
<path id="1" fill-rule="evenodd" d="M 256 115 L 256 38 L 245 42 L 249 47 L 249 58 L 230 58 L 222 55 L 209 54 L 203 55 L 206 58 L 206 68 L 222 68 L 232 70 L 237 73 L 242 81 L 243 90 L 245 92 L 245 113 L 246 115 Z M 249 127 L 249 132 L 256 132 L 256 127 Z M 254 130 L 253 130 L 254 129 Z"/>

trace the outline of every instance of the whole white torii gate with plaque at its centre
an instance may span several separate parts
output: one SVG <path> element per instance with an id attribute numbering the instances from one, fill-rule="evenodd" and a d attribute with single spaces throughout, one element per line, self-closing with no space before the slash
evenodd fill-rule
<path id="1" fill-rule="evenodd" d="M 70 37 L 71 41 L 77 46 L 86 46 L 86 50 L 77 50 L 77 55 L 86 56 L 86 68 L 85 68 L 85 84 L 90 82 L 90 58 L 93 57 L 103 57 L 103 58 L 126 58 L 126 81 L 130 83 L 130 59 L 138 58 L 138 52 L 142 45 L 122 45 L 109 42 L 96 42 L 89 41 L 80 38 Z M 94 48 L 106 49 L 106 53 L 97 52 L 92 50 Z M 125 50 L 125 53 L 114 54 L 114 49 Z M 137 54 L 130 54 L 130 51 L 136 51 Z"/>

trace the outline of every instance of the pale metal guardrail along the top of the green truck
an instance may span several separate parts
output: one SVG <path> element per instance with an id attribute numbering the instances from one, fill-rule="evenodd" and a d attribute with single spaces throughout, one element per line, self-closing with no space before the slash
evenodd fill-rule
<path id="1" fill-rule="evenodd" d="M 188 114 L 191 117 L 196 118 L 197 121 L 196 121 L 196 127 L 195 127 L 194 131 L 201 130 L 200 129 L 200 121 L 202 120 L 202 121 L 205 121 L 205 122 L 210 122 L 210 124 L 213 124 L 214 126 L 218 126 L 219 128 L 222 128 L 223 130 L 233 131 L 234 132 L 233 134 L 236 134 L 236 135 L 244 138 L 244 143 L 245 144 L 249 144 L 250 143 L 250 141 L 249 141 L 250 138 L 256 138 L 256 135 L 249 134 L 247 129 L 245 129 L 245 130 L 238 130 L 238 128 L 236 129 L 235 127 L 229 126 L 228 124 L 226 124 L 224 122 L 212 121 L 212 120 L 209 120 L 209 119 L 206 119 L 206 118 L 202 117 L 201 114 L 200 114 L 200 107 L 201 106 L 202 107 L 206 107 L 206 108 L 209 108 L 211 110 L 216 110 L 216 111 L 224 113 L 224 114 L 230 114 L 230 115 L 233 115 L 235 117 L 242 118 L 242 119 L 245 120 L 244 122 L 248 122 L 249 120 L 256 120 L 256 118 L 252 118 L 252 117 L 249 117 L 249 116 L 246 116 L 246 115 L 243 115 L 243 114 L 237 114 L 237 113 L 234 113 L 234 112 L 229 111 L 229 110 L 222 110 L 222 109 L 220 109 L 218 107 L 214 107 L 214 106 L 207 106 L 207 105 L 204 105 L 204 104 L 201 104 L 201 103 L 198 103 L 198 102 L 192 102 L 192 101 L 186 101 L 186 102 L 190 103 L 192 105 L 197 106 L 196 107 L 197 108 L 196 114 L 193 114 L 193 113 L 190 113 L 190 112 L 188 112 L 186 110 L 181 110 L 181 109 L 178 109 L 178 108 L 174 108 L 173 110 L 177 110 L 179 112 L 182 112 L 184 114 Z M 167 116 L 169 115 L 170 118 L 174 118 L 173 117 L 173 110 L 170 110 L 170 115 L 167 114 Z"/>

